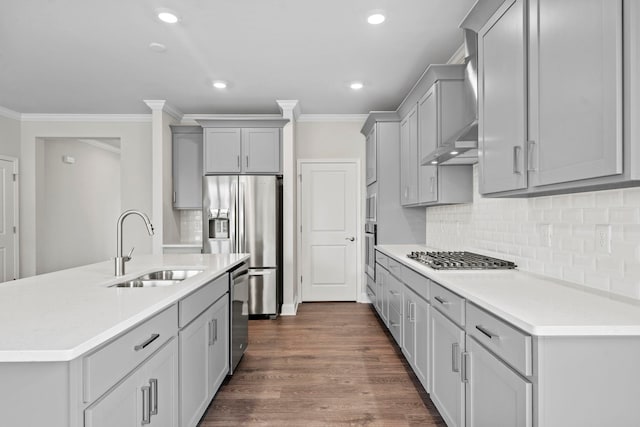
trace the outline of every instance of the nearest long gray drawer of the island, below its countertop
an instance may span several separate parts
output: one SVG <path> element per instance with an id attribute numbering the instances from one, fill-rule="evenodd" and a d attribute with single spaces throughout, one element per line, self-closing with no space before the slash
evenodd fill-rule
<path id="1" fill-rule="evenodd" d="M 82 360 L 83 397 L 92 402 L 120 381 L 178 331 L 176 304 Z"/>

